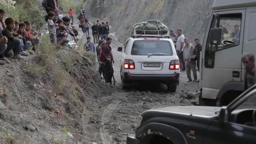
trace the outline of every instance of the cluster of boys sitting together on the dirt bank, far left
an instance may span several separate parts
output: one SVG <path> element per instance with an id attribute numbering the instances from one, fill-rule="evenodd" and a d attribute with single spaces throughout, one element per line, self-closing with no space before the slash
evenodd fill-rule
<path id="1" fill-rule="evenodd" d="M 31 29 L 31 23 L 8 17 L 4 20 L 5 11 L 0 9 L 0 65 L 10 63 L 6 57 L 14 56 L 22 60 L 23 56 L 30 55 L 32 50 L 40 43 L 38 32 Z M 23 55 L 23 56 L 22 56 Z"/>

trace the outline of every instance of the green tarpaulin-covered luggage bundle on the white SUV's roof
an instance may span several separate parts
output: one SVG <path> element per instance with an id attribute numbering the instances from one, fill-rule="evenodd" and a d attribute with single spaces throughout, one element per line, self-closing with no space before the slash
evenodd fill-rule
<path id="1" fill-rule="evenodd" d="M 162 33 L 162 35 L 165 35 L 168 32 L 168 27 L 159 20 L 148 20 L 147 22 L 133 24 L 132 34 L 134 30 L 136 30 L 136 34 L 160 35 Z M 143 30 L 145 30 L 145 33 L 143 33 Z M 157 30 L 161 30 L 161 32 L 158 33 Z"/>

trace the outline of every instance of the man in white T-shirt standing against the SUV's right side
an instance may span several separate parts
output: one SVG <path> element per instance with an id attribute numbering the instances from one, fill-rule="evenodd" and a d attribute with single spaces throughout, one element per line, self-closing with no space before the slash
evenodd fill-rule
<path id="1" fill-rule="evenodd" d="M 182 34 L 181 29 L 177 30 L 177 35 L 178 35 L 178 40 L 174 41 L 174 42 L 176 42 L 176 53 L 178 55 L 179 61 L 181 61 L 181 63 L 182 63 L 181 71 L 185 71 L 186 67 L 185 67 L 185 62 L 183 60 L 183 47 L 184 47 L 185 36 Z"/>

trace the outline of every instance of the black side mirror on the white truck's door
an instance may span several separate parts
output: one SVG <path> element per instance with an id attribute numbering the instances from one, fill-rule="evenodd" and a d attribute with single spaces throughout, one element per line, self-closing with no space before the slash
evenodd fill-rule
<path id="1" fill-rule="evenodd" d="M 210 44 L 212 45 L 220 45 L 221 43 L 221 31 L 222 28 L 211 28 L 210 29 Z"/>

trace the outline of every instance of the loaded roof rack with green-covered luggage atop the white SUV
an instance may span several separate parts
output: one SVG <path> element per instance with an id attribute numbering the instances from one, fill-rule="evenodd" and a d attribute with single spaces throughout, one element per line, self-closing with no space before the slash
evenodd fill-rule
<path id="1" fill-rule="evenodd" d="M 170 37 L 168 27 L 158 20 L 135 23 L 132 26 L 132 37 Z"/>

